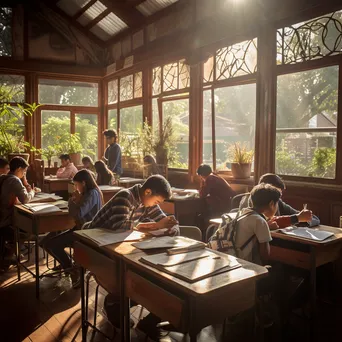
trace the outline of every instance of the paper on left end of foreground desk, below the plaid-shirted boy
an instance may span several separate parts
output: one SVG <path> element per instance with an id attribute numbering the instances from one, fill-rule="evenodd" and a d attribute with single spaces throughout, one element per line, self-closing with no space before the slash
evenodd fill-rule
<path id="1" fill-rule="evenodd" d="M 144 233 L 133 230 L 118 233 L 103 228 L 86 229 L 78 233 L 94 241 L 100 247 L 124 241 L 139 241 L 145 236 Z"/>

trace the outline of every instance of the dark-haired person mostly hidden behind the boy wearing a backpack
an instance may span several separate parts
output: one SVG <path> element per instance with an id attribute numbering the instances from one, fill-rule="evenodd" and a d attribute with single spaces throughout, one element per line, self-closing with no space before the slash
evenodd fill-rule
<path id="1" fill-rule="evenodd" d="M 276 174 L 266 173 L 259 179 L 260 183 L 271 184 L 276 187 L 280 193 L 286 189 L 284 181 Z M 251 198 L 246 195 L 240 202 L 240 209 L 252 206 Z M 271 227 L 273 229 L 284 228 L 298 223 L 308 224 L 309 227 L 318 226 L 320 220 L 317 216 L 312 215 L 312 211 L 303 209 L 302 211 L 292 208 L 290 205 L 279 200 L 278 211 L 276 212 L 276 217 L 270 220 Z M 273 224 L 272 223 L 276 223 Z"/>

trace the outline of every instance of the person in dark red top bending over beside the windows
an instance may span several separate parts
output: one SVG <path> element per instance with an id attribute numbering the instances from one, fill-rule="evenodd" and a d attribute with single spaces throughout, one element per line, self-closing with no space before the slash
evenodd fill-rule
<path id="1" fill-rule="evenodd" d="M 221 216 L 229 211 L 231 198 L 235 195 L 230 185 L 221 177 L 213 174 L 209 165 L 202 164 L 197 169 L 201 177 L 200 197 L 205 198 L 209 206 L 209 216 Z"/>

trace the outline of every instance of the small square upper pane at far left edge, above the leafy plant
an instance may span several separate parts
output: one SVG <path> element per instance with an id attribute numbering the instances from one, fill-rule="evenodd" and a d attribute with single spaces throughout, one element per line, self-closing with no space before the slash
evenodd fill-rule
<path id="1" fill-rule="evenodd" d="M 25 77 L 20 75 L 0 75 L 0 97 L 1 102 L 24 102 Z"/>

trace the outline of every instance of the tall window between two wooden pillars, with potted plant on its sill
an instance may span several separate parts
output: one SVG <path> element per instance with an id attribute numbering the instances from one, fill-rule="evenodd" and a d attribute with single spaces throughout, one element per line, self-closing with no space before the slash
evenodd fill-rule
<path id="1" fill-rule="evenodd" d="M 230 170 L 234 143 L 254 151 L 256 71 L 256 38 L 221 48 L 203 64 L 202 158 L 216 171 Z"/>

